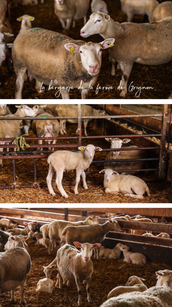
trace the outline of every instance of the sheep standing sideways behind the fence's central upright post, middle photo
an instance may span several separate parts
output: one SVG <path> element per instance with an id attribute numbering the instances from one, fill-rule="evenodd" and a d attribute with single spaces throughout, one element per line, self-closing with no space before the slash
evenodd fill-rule
<path id="1" fill-rule="evenodd" d="M 76 104 L 71 104 L 70 108 L 67 104 L 58 105 L 56 107 L 56 112 L 58 116 L 66 116 L 66 117 L 74 117 L 78 114 L 78 107 Z M 81 104 L 81 116 L 106 116 L 108 115 L 105 111 L 97 110 L 91 106 Z M 87 125 L 92 119 L 81 119 L 81 122 L 84 124 L 84 133 L 87 134 Z M 66 130 L 64 129 L 63 125 L 65 122 L 70 122 L 72 124 L 77 123 L 77 119 L 62 119 L 60 120 L 60 133 L 66 134 Z M 76 134 L 78 133 L 78 128 L 76 130 Z"/>

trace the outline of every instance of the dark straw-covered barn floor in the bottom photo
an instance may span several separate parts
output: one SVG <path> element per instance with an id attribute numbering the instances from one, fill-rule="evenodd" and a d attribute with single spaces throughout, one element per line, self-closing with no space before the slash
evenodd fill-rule
<path id="1" fill-rule="evenodd" d="M 47 249 L 44 247 L 29 247 L 29 254 L 31 256 L 32 268 L 28 274 L 25 283 L 24 296 L 27 304 L 26 307 L 77 307 L 78 293 L 77 286 L 73 284 L 71 287 L 63 286 L 60 290 L 55 287 L 56 272 L 53 271 L 51 279 L 54 280 L 54 290 L 52 294 L 36 293 L 36 285 L 39 279 L 45 278 L 43 273 L 43 266 L 47 266 L 56 256 L 56 252 L 49 256 Z M 145 285 L 149 288 L 156 285 L 155 272 L 158 270 L 168 269 L 171 266 L 166 264 L 158 264 L 148 262 L 143 265 L 127 264 L 123 259 L 110 260 L 100 259 L 99 261 L 92 258 L 94 272 L 90 283 L 90 295 L 92 303 L 87 302 L 87 294 L 85 285 L 81 286 L 82 305 L 84 307 L 92 306 L 99 307 L 107 298 L 107 294 L 116 286 L 123 286 L 128 278 L 136 275 L 145 278 Z M 17 288 L 19 289 L 19 288 Z M 17 303 L 10 303 L 10 292 L 1 294 L 1 304 L 3 307 L 19 307 L 20 291 L 16 291 Z"/>

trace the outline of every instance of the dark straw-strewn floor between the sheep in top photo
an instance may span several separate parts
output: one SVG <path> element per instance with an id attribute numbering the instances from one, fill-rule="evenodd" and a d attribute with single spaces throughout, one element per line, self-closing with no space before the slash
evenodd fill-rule
<path id="1" fill-rule="evenodd" d="M 23 14 L 30 14 L 35 17 L 32 22 L 33 27 L 41 27 L 48 30 L 53 30 L 57 32 L 62 32 L 62 26 L 54 14 L 54 1 L 44 0 L 44 4 L 39 4 L 36 6 L 19 6 L 12 10 L 11 14 L 11 24 L 13 26 L 14 34 L 16 37 L 18 31 L 20 30 L 21 23 L 16 21 L 16 19 Z M 118 22 L 125 22 L 126 15 L 121 11 L 120 0 L 112 1 L 107 0 L 108 10 L 110 17 Z M 88 11 L 87 20 L 91 14 L 91 10 Z M 135 15 L 134 22 L 143 22 L 143 16 Z M 83 20 L 77 21 L 77 27 L 71 29 L 70 37 L 74 39 L 82 39 L 80 37 L 80 29 L 83 27 Z M 93 35 L 91 37 L 85 38 L 84 41 L 101 42 L 103 38 L 100 35 Z M 102 55 L 102 67 L 101 72 L 98 77 L 98 81 L 90 90 L 88 94 L 89 99 L 119 99 L 118 86 L 121 80 L 121 72 L 117 70 L 116 76 L 111 76 L 111 64 L 108 60 L 108 50 L 105 50 Z M 9 77 L 7 75 L 7 68 L 5 63 L 2 64 L 0 72 L 0 82 L 3 83 L 2 89 L 0 89 L 0 98 L 4 99 L 14 99 L 15 91 L 15 72 L 13 70 L 12 64 L 11 69 L 13 71 L 13 76 Z M 132 83 L 133 82 L 133 83 Z M 141 90 L 138 99 L 166 99 L 170 92 L 172 91 L 172 73 L 171 73 L 171 62 L 167 64 L 162 64 L 158 66 L 140 65 L 134 63 L 132 72 L 129 77 L 128 85 L 131 84 L 135 87 L 153 87 L 153 89 Z M 96 94 L 97 86 L 100 87 L 113 87 L 113 89 L 99 89 Z M 35 81 L 25 82 L 23 90 L 24 99 L 55 99 L 54 90 L 46 90 L 45 95 L 37 93 L 34 89 Z M 126 95 L 126 99 L 136 99 L 136 91 L 130 91 Z M 74 89 L 70 91 L 70 99 L 81 99 L 80 91 Z"/>

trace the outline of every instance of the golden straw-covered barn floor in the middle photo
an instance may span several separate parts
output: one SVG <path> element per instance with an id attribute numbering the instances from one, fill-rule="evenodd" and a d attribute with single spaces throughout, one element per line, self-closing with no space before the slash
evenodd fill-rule
<path id="1" fill-rule="evenodd" d="M 77 125 L 68 125 L 67 131 L 68 134 L 66 136 L 75 136 L 75 131 L 77 129 Z M 96 135 L 98 134 L 96 131 L 91 130 L 88 126 L 87 128 L 88 135 Z M 34 137 L 35 135 L 32 131 L 29 131 L 29 136 Z M 66 140 L 58 140 L 57 144 L 66 143 Z M 68 140 L 67 142 L 71 143 L 72 141 Z M 74 142 L 74 141 L 73 141 Z M 36 143 L 36 142 L 35 142 Z M 109 148 L 109 143 L 104 139 L 99 140 L 95 139 L 94 141 L 90 141 L 89 139 L 85 139 L 83 141 L 84 145 L 93 143 L 95 146 L 100 146 L 102 148 Z M 131 142 L 130 142 L 131 143 Z M 131 144 L 132 145 L 132 144 Z M 68 149 L 69 150 L 69 149 Z M 94 156 L 94 160 L 100 160 L 105 158 L 107 152 L 96 152 Z M 93 160 L 93 161 L 94 161 Z M 3 160 L 4 166 L 0 170 L 0 185 L 9 185 L 13 184 L 13 176 L 12 176 L 12 161 Z M 90 165 L 89 171 L 97 171 L 104 169 L 104 164 L 95 164 L 92 163 Z M 47 159 L 37 159 L 37 177 L 39 183 L 46 183 L 46 177 L 48 173 L 48 164 Z M 17 185 L 22 184 L 33 184 L 33 160 L 32 159 L 22 159 L 16 160 L 16 175 L 17 175 Z M 147 174 L 139 173 L 136 175 L 141 177 L 142 179 L 156 179 L 158 174 L 148 172 Z M 131 197 L 124 197 L 123 194 L 118 193 L 107 194 L 104 192 L 103 188 L 103 177 L 102 174 L 87 174 L 86 181 L 88 183 L 88 190 L 84 190 L 82 186 L 79 186 L 78 192 L 79 194 L 76 196 L 73 193 L 72 186 L 66 186 L 65 191 L 69 195 L 68 199 L 60 196 L 60 193 L 57 189 L 55 192 L 56 196 L 51 196 L 49 194 L 48 188 L 24 188 L 24 189 L 15 189 L 15 190 L 0 190 L 0 203 L 171 203 L 172 195 L 171 195 L 171 186 L 166 183 L 148 183 L 148 187 L 150 189 L 151 197 L 145 197 L 143 200 L 136 200 Z M 75 181 L 75 172 L 66 172 L 63 177 L 64 181 Z M 99 181 L 98 185 L 90 185 L 89 181 Z"/>

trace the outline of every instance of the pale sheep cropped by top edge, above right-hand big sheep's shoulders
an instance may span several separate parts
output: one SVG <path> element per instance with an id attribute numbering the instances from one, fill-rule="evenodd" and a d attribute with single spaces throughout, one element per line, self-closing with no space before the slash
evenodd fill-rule
<path id="1" fill-rule="evenodd" d="M 127 15 L 127 21 L 132 21 L 134 14 L 148 15 L 151 22 L 152 13 L 159 2 L 156 0 L 120 0 L 121 10 Z"/>

